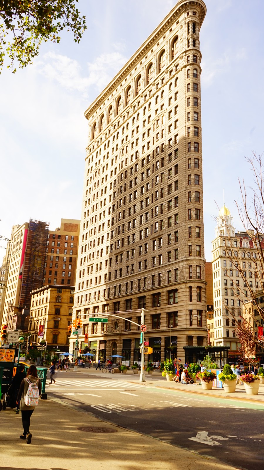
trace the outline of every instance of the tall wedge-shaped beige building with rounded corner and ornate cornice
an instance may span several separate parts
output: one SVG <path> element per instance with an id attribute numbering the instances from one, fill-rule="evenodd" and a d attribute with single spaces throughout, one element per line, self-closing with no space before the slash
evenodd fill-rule
<path id="1" fill-rule="evenodd" d="M 85 111 L 89 121 L 73 319 L 98 357 L 184 360 L 207 344 L 202 0 L 181 0 Z M 91 316 L 112 313 L 108 324 Z M 86 340 L 85 340 L 86 333 Z M 88 338 L 89 334 L 89 339 Z M 70 339 L 73 350 L 74 337 Z"/>

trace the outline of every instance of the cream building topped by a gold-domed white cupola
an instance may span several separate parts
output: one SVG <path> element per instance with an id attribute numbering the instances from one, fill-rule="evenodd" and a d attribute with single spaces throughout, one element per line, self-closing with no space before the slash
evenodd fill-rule
<path id="1" fill-rule="evenodd" d="M 236 232 L 233 217 L 224 206 L 217 217 L 216 238 L 212 242 L 214 288 L 214 334 L 212 344 L 229 346 L 229 357 L 239 357 L 241 344 L 236 327 L 242 320 L 242 307 L 250 302 L 250 292 L 260 285 L 254 232 Z M 248 286 L 243 277 L 247 278 Z M 260 270 L 259 270 L 260 271 Z M 262 274 L 261 274 L 262 276 Z M 263 282 L 262 282 L 263 283 Z M 253 326 L 253 325 L 252 325 Z"/>

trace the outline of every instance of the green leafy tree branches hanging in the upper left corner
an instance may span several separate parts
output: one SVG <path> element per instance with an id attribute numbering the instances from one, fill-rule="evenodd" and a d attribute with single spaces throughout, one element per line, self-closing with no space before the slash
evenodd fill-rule
<path id="1" fill-rule="evenodd" d="M 15 61 L 20 68 L 31 64 L 41 42 L 60 42 L 59 34 L 65 28 L 78 43 L 86 25 L 76 3 L 78 0 L 0 0 L 0 71 L 5 56 L 13 72 Z"/>

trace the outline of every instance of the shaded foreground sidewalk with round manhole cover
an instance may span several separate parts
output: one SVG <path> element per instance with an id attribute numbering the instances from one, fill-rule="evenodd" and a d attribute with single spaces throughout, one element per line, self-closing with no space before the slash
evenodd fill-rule
<path id="1" fill-rule="evenodd" d="M 60 401 L 40 400 L 31 417 L 32 443 L 19 439 L 21 414 L 0 413 L 1 470 L 235 470 L 229 464 L 129 431 Z M 80 431 L 103 427 L 112 433 Z M 237 470 L 237 469 L 236 469 Z"/>

